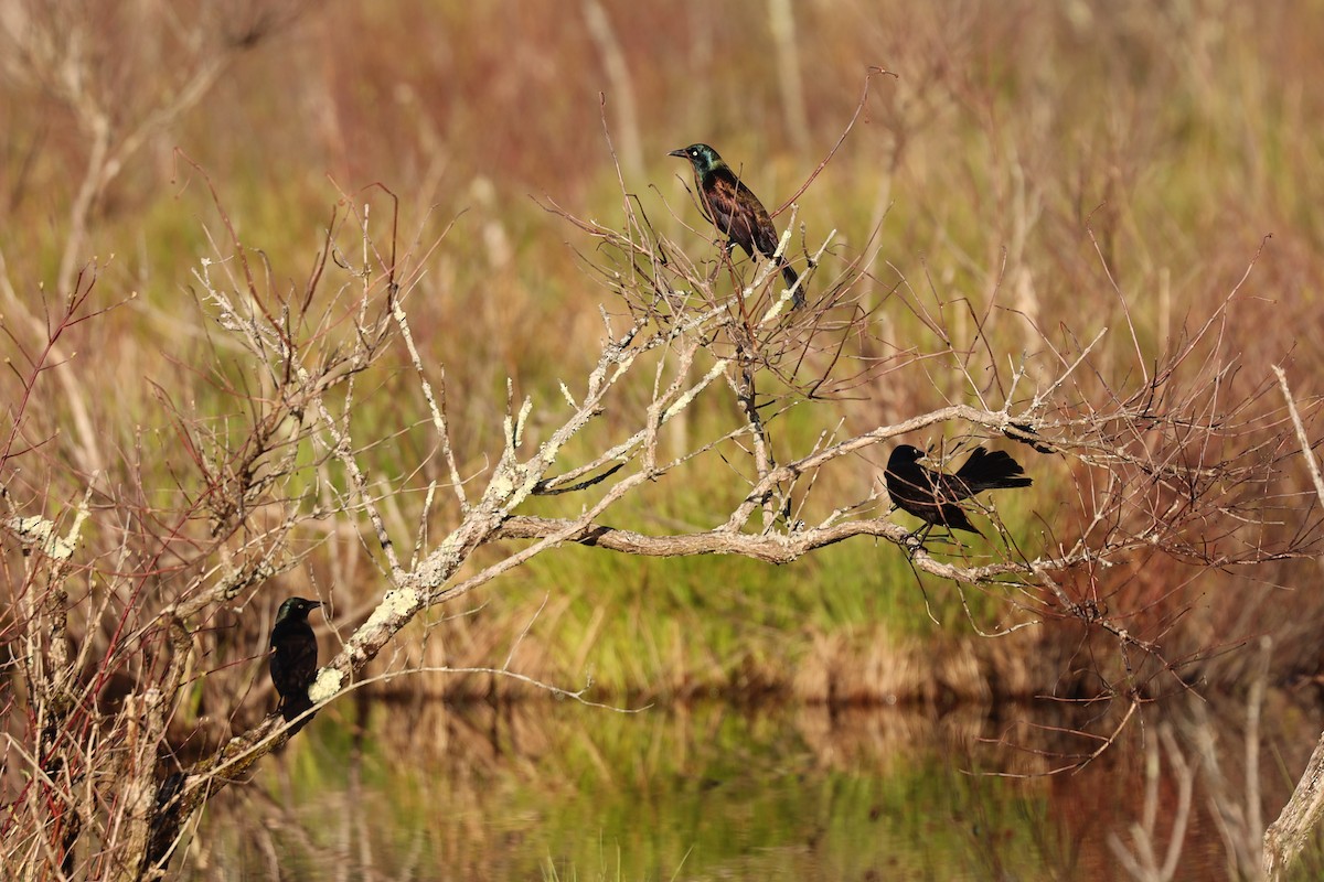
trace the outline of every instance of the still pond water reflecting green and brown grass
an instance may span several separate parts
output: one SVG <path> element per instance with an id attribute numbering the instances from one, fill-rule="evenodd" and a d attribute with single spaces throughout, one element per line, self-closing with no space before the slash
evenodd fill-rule
<path id="1" fill-rule="evenodd" d="M 213 800 L 175 866 L 187 879 L 1128 879 L 1127 856 L 1161 863 L 1180 826 L 1172 878 L 1230 879 L 1237 837 L 1258 842 L 1227 820 L 1247 815 L 1243 710 L 1141 710 L 1099 759 L 1049 774 L 1100 746 L 1064 730 L 1108 731 L 1124 709 L 1083 722 L 1061 707 L 330 709 Z M 1286 713 L 1262 726 L 1266 824 L 1319 733 Z M 1320 863 L 1300 878 L 1324 878 Z"/>

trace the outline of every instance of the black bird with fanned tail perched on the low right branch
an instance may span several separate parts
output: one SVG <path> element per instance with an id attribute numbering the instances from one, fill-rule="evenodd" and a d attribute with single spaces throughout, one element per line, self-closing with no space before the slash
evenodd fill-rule
<path id="1" fill-rule="evenodd" d="M 970 524 L 957 502 L 984 491 L 1029 487 L 1034 481 L 1023 477 L 1025 469 L 1000 450 L 976 447 L 970 458 L 955 475 L 935 472 L 919 464 L 924 451 L 910 444 L 898 444 L 887 458 L 887 495 L 898 506 L 924 521 L 920 545 L 935 526 L 949 530 L 980 533 Z M 980 533 L 982 536 L 982 533 Z"/>

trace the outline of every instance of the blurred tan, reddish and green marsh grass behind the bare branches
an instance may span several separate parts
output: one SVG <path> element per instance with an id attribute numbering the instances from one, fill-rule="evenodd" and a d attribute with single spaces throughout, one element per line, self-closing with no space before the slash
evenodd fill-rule
<path id="1" fill-rule="evenodd" d="M 416 254 L 455 221 L 436 259 L 420 262 L 426 272 L 404 290 L 420 349 L 429 364 L 445 365 L 455 456 L 466 476 L 490 467 L 507 377 L 516 401 L 524 394 L 543 401 L 556 398 L 559 380 L 584 373 L 598 352 L 597 304 L 610 300 L 612 279 L 584 272 L 585 261 L 602 259 L 579 253 L 593 241 L 530 196 L 555 200 L 577 217 L 620 221 L 620 181 L 597 100 L 609 82 L 626 87 L 620 71 L 605 73 L 602 46 L 613 40 L 633 94 L 609 91 L 606 122 L 617 144 L 638 144 L 637 155 L 621 157 L 624 186 L 662 235 L 685 245 L 675 259 L 699 266 L 714 257 L 708 233 L 687 198 L 687 175 L 665 157 L 667 149 L 694 140 L 718 145 L 776 205 L 839 135 L 866 66 L 898 74 L 875 79 L 861 124 L 800 197 L 796 218 L 805 231 L 792 237 L 792 253 L 804 261 L 808 243 L 838 231 L 812 296 L 829 291 L 855 261 L 869 270 L 854 291 L 870 333 L 853 342 L 849 357 L 871 373 L 850 390 L 859 401 L 843 417 L 849 434 L 965 402 L 976 391 L 1001 393 L 998 377 L 1009 366 L 994 353 L 1025 352 L 1034 361 L 1050 346 L 1075 352 L 1108 327 L 1112 333 L 1094 353 L 1099 373 L 1074 378 L 1084 411 L 1117 387 L 1119 377 L 1152 370 L 1233 291 L 1229 323 L 1188 358 L 1200 364 L 1217 342 L 1238 353 L 1237 370 L 1217 386 L 1188 390 L 1193 407 L 1218 413 L 1227 401 L 1254 403 L 1276 362 L 1284 362 L 1308 415 L 1324 391 L 1317 346 L 1299 345 L 1324 325 L 1324 218 L 1315 185 L 1324 155 L 1315 120 L 1324 116 L 1324 97 L 1313 87 L 1324 22 L 1300 15 L 1305 5 L 804 5 L 796 9 L 802 67 L 792 71 L 804 106 L 788 107 L 793 93 L 779 87 L 788 61 L 769 49 L 767 7 L 753 0 L 719 12 L 699 3 L 605 4 L 610 26 L 597 42 L 579 8 L 563 5 L 339 4 L 252 44 L 244 26 L 216 30 L 220 44 L 200 45 L 224 57 L 224 75 L 217 71 L 204 97 L 160 124 L 144 122 L 144 107 L 175 83 L 163 71 L 193 70 L 189 44 L 168 28 L 138 26 L 131 16 L 148 15 L 147 7 L 122 13 L 94 7 L 93 30 L 134 33 L 142 48 L 102 48 L 95 57 L 95 87 L 114 108 L 109 131 L 143 128 L 136 149 L 87 200 L 70 169 L 97 155 L 102 130 L 89 124 L 95 115 L 68 83 L 25 74 L 17 50 L 34 44 L 5 46 L 13 52 L 4 54 L 0 107 L 15 135 L 0 157 L 7 230 L 0 311 L 13 369 L 3 394 L 19 403 L 0 428 L 16 430 L 20 418 L 23 426 L 5 447 L 0 481 L 13 513 L 65 522 L 94 485 L 87 505 L 105 517 L 90 518 L 87 546 L 103 554 L 97 566 L 106 571 L 115 571 L 114 550 L 130 559 L 148 541 L 168 537 L 152 567 L 117 573 L 140 592 L 135 598 L 154 598 L 163 577 L 204 551 L 225 559 L 246 538 L 203 541 L 204 522 L 216 513 L 179 508 L 196 501 L 184 500 L 179 476 L 207 459 L 207 451 L 189 447 L 185 422 L 205 426 L 216 450 L 226 451 L 225 442 L 242 438 L 262 415 L 249 410 L 254 402 L 273 394 L 208 324 L 213 307 L 189 275 L 201 257 L 214 254 L 214 243 L 229 239 L 217 204 L 234 218 L 234 237 L 261 249 L 253 251 L 253 287 L 270 303 L 297 300 L 291 292 L 312 275 L 328 206 L 342 193 L 357 197 L 375 182 L 399 193 L 399 239 Z M 179 15 L 192 21 L 205 8 Z M 731 26 L 714 26 L 714 16 Z M 628 103 L 639 108 L 637 131 L 622 131 L 630 126 L 621 112 Z M 786 120 L 801 118 L 809 131 L 789 131 Z M 789 218 L 782 213 L 777 222 Z M 371 223 L 384 230 L 391 221 L 379 212 Z M 328 358 L 355 339 L 348 296 L 336 295 L 326 315 L 302 316 L 308 324 L 299 329 L 315 329 Z M 57 346 L 37 352 L 33 341 L 45 341 L 61 316 L 77 320 L 60 327 Z M 373 487 L 417 499 L 430 481 L 445 480 L 445 468 L 428 427 L 401 424 L 408 421 L 399 402 L 413 382 L 408 364 L 387 366 L 372 387 L 357 390 L 352 419 L 399 427 L 391 450 L 377 451 L 380 473 L 369 477 L 380 481 Z M 629 413 L 632 402 L 613 403 Z M 645 406 L 646 395 L 633 403 Z M 728 406 L 690 414 L 669 430 L 671 440 L 706 438 L 730 417 Z M 1253 426 L 1256 414 L 1251 407 L 1231 421 Z M 831 428 L 797 421 L 779 423 L 784 434 L 772 443 L 804 447 Z M 553 427 L 535 421 L 530 432 L 540 438 Z M 1235 436 L 1237 426 L 1227 428 Z M 1162 440 L 1158 432 L 1136 438 L 1137 446 Z M 289 451 L 277 444 L 262 452 Z M 1192 443 L 1182 452 L 1231 461 L 1247 455 L 1235 444 Z M 260 471 L 260 459 L 245 464 Z M 409 463 L 424 465 L 406 473 Z M 711 465 L 723 467 L 730 460 Z M 879 469 L 861 456 L 821 480 L 824 489 L 858 491 L 871 487 Z M 1037 458 L 1034 473 L 1034 495 L 1000 501 L 1000 514 L 1010 525 L 1006 538 L 1051 546 L 1080 528 L 1063 514 L 1080 499 L 1062 500 L 1098 488 L 1088 468 L 1066 458 Z M 1262 492 L 1286 508 L 1301 489 L 1245 487 L 1229 504 Z M 318 492 L 330 497 L 342 489 L 327 480 Z M 696 497 L 707 501 L 700 493 L 677 481 L 618 514 L 659 532 L 692 529 Z M 1166 510 L 1165 493 L 1156 489 L 1147 500 L 1152 509 L 1133 514 Z M 383 496 L 381 516 L 397 534 L 409 534 L 412 509 Z M 565 510 L 556 502 L 539 509 Z M 106 514 L 117 512 L 136 516 Z M 177 521 L 166 522 L 166 513 Z M 1309 536 L 1320 521 L 1313 508 L 1280 512 L 1279 520 L 1234 538 L 1271 546 Z M 428 524 L 432 536 L 454 526 L 445 516 L 437 521 Z M 5 629 L 33 596 L 23 577 L 30 547 L 7 537 Z M 319 623 L 326 649 L 381 594 L 379 550 L 354 530 L 306 524 L 289 540 L 298 549 L 297 569 L 188 623 L 208 661 L 191 674 L 188 701 L 171 725 L 188 733 L 193 750 L 246 729 L 267 707 L 258 674 L 267 616 L 279 598 L 334 600 L 331 624 Z M 379 659 L 376 673 L 491 666 L 510 657 L 512 668 L 569 685 L 592 673 L 602 692 L 620 696 L 716 690 L 841 703 L 984 702 L 1030 693 L 1161 692 L 1176 685 L 1156 686 L 1155 674 L 1177 664 L 1190 680 L 1233 685 L 1243 674 L 1239 656 L 1210 651 L 1271 632 L 1279 678 L 1319 674 L 1324 608 L 1309 591 L 1291 590 L 1312 583 L 1313 565 L 1279 562 L 1196 579 L 1192 562 L 1201 563 L 1202 550 L 1155 554 L 1063 586 L 1074 602 L 1120 611 L 1133 633 L 1162 644 L 1162 660 L 1141 660 L 1135 670 L 1116 652 L 1115 636 L 1099 631 L 1064 625 L 972 637 L 972 625 L 997 631 L 1051 619 L 1053 611 L 1016 596 L 1016 614 L 1004 615 L 1009 607 L 993 587 L 957 596 L 918 584 L 896 549 L 854 541 L 838 558 L 825 554 L 776 574 L 726 561 L 663 569 L 608 563 L 593 550 L 565 554 L 523 570 L 526 583 L 510 579 L 467 610 L 448 608 L 445 621 L 420 623 L 417 640 Z M 483 563 L 478 555 L 473 566 Z M 155 625 L 136 619 L 136 607 L 107 592 L 91 571 L 71 579 L 77 611 L 69 632 L 82 652 L 77 685 L 95 692 L 106 685 L 97 660 L 117 637 Z M 78 607 L 83 599 L 89 603 Z M 925 602 L 940 628 L 931 627 Z M 943 647 L 937 656 L 933 644 Z M 118 673 L 146 681 L 160 673 L 152 664 L 146 656 L 122 660 Z M 395 686 L 418 696 L 524 692 L 506 681 L 494 686 L 486 674 L 454 673 L 417 674 Z M 5 706 L 23 703 L 17 678 L 7 678 L 4 689 Z M 143 744 L 142 755 L 150 754 Z"/>

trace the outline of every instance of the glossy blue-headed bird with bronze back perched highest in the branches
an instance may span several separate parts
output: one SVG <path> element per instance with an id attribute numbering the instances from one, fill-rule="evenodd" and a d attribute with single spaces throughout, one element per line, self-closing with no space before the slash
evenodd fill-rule
<path id="1" fill-rule="evenodd" d="M 671 151 L 667 156 L 690 160 L 694 167 L 694 182 L 699 188 L 699 201 L 708 220 L 718 227 L 718 233 L 728 238 L 727 251 L 739 245 L 751 258 L 755 249 L 769 259 L 777 253 L 777 227 L 772 225 L 768 209 L 718 156 L 718 151 L 707 144 L 690 144 Z M 796 287 L 800 276 L 786 259 L 779 258 L 777 266 L 781 267 L 781 278 L 785 279 L 786 287 Z M 798 309 L 802 305 L 805 305 L 805 292 L 797 290 L 792 308 Z"/>

